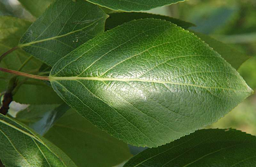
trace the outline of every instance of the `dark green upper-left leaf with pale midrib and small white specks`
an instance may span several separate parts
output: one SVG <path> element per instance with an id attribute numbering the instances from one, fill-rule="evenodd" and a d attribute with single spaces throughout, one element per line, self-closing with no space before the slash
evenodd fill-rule
<path id="1" fill-rule="evenodd" d="M 106 18 L 94 4 L 57 0 L 28 28 L 19 47 L 53 66 L 61 57 L 102 33 Z"/>

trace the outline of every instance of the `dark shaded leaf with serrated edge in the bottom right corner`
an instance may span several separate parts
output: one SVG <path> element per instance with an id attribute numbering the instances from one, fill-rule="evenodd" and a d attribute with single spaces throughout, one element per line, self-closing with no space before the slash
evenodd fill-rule
<path id="1" fill-rule="evenodd" d="M 158 148 L 146 149 L 124 167 L 254 166 L 256 137 L 235 129 L 203 129 Z"/>

